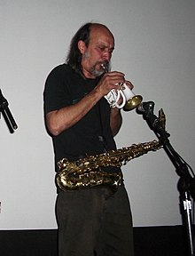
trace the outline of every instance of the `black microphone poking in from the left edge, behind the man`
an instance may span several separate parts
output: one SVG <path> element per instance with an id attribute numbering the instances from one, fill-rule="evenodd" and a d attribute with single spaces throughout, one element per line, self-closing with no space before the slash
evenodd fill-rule
<path id="1" fill-rule="evenodd" d="M 2 115 L 4 116 L 5 123 L 8 126 L 8 129 L 11 133 L 13 133 L 14 130 L 18 128 L 18 125 L 16 124 L 8 105 L 8 101 L 4 98 L 2 91 L 0 90 L 0 117 L 2 113 Z"/>

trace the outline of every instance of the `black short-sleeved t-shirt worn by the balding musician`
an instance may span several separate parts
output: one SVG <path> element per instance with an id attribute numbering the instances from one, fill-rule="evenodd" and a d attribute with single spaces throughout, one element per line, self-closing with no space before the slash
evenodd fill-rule
<path id="1" fill-rule="evenodd" d="M 84 78 L 66 64 L 54 68 L 44 89 L 44 113 L 75 104 L 98 84 L 98 79 Z M 104 140 L 102 141 L 102 138 Z M 53 136 L 56 163 L 62 158 L 78 159 L 115 149 L 110 127 L 110 106 L 103 97 L 90 112 L 66 131 Z M 104 168 L 105 169 L 105 168 Z M 113 171 L 118 168 L 107 168 Z"/>

